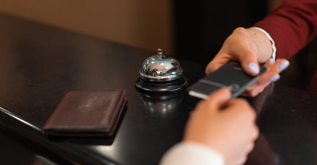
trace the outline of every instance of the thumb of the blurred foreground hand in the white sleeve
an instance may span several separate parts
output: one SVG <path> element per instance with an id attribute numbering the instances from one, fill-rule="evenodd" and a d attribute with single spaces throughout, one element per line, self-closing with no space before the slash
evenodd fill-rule
<path id="1" fill-rule="evenodd" d="M 223 87 L 214 91 L 208 98 L 207 104 L 211 109 L 220 109 L 224 107 L 231 99 L 231 91 L 228 87 Z"/>

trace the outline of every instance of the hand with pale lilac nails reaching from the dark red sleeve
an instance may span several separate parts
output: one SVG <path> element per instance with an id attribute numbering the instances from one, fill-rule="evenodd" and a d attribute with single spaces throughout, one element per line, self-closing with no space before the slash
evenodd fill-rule
<path id="1" fill-rule="evenodd" d="M 289 65 L 288 60 L 284 58 L 274 62 L 274 59 L 270 58 L 271 55 L 272 45 L 264 33 L 258 29 L 236 28 L 224 41 L 215 58 L 207 65 L 205 73 L 208 75 L 229 60 L 235 60 L 241 62 L 241 66 L 247 74 L 256 76 L 260 72 L 258 62 L 265 62 L 264 67 L 269 70 L 243 93 L 245 96 L 254 97 L 262 92 L 270 82 L 280 79 L 279 73 Z"/>

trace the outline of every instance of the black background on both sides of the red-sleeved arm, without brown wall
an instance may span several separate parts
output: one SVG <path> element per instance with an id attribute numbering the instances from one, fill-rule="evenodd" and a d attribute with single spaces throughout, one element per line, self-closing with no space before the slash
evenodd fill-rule
<path id="1" fill-rule="evenodd" d="M 202 64 L 220 50 L 224 40 L 237 27 L 248 28 L 265 17 L 281 0 L 174 1 L 178 57 Z M 316 70 L 317 42 L 290 59 L 290 66 L 277 83 L 307 90 Z"/>

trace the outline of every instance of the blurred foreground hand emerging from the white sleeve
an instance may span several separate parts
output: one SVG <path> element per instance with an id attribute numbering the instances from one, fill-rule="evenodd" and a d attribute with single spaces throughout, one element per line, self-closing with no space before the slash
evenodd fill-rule
<path id="1" fill-rule="evenodd" d="M 200 101 L 190 114 L 183 140 L 209 146 L 223 155 L 225 164 L 238 165 L 247 160 L 259 129 L 249 103 L 230 98 L 229 88 L 222 88 Z"/>

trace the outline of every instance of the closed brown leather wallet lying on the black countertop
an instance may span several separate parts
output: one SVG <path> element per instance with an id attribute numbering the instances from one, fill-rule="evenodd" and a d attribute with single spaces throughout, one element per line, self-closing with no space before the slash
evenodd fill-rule
<path id="1" fill-rule="evenodd" d="M 42 127 L 55 136 L 112 136 L 126 103 L 126 90 L 68 92 Z"/>

